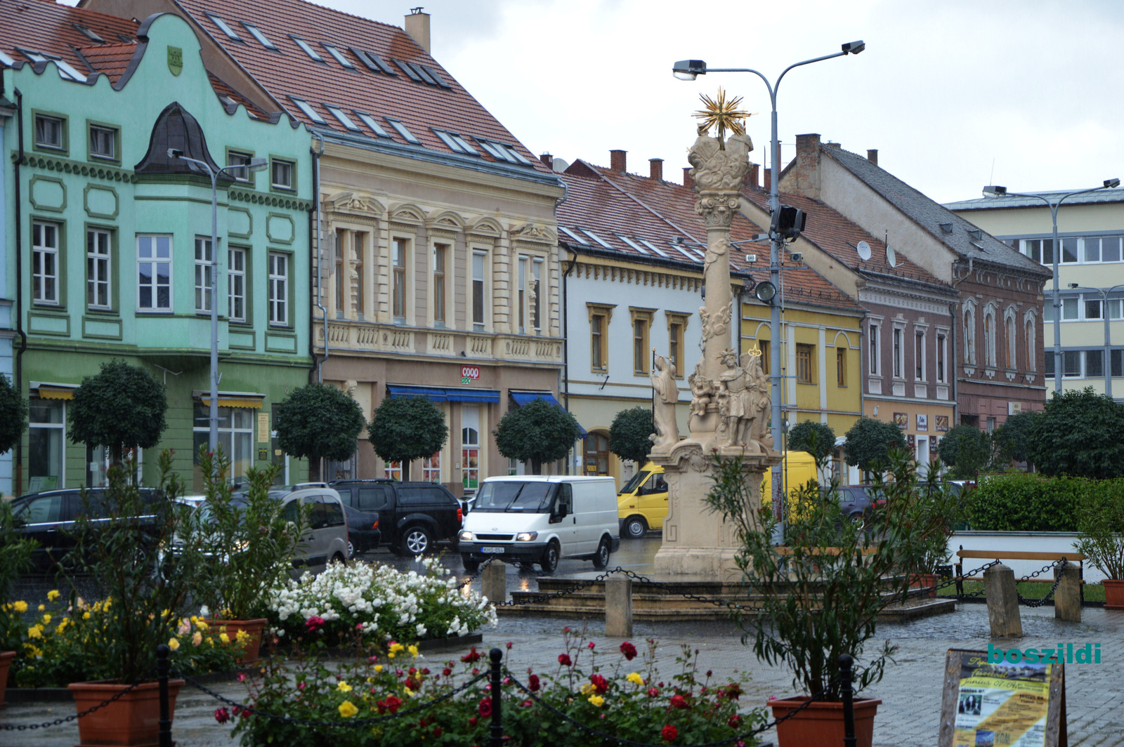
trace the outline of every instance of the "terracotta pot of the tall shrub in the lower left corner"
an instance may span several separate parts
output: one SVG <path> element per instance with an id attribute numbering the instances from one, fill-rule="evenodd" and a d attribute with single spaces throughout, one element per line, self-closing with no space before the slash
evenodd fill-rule
<path id="1" fill-rule="evenodd" d="M 127 685 L 111 682 L 76 682 L 69 685 L 79 713 L 105 702 Z M 175 714 L 175 696 L 183 680 L 169 680 L 169 712 Z M 145 682 L 119 699 L 78 720 L 81 745 L 126 745 L 155 747 L 160 741 L 160 684 Z"/>

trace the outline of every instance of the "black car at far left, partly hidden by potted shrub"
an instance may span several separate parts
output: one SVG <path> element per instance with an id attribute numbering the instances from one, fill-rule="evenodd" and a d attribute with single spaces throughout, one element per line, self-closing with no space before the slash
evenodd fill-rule
<path id="1" fill-rule="evenodd" d="M 76 488 L 51 490 L 20 495 L 11 502 L 12 516 L 20 535 L 37 544 L 31 553 L 36 570 L 51 570 L 73 549 L 74 521 L 85 507 L 89 507 L 89 518 L 107 518 L 102 503 L 105 493 L 103 488 L 89 488 L 83 502 L 82 491 Z M 158 495 L 160 491 L 153 488 L 140 489 L 140 498 L 145 503 L 156 501 Z"/>

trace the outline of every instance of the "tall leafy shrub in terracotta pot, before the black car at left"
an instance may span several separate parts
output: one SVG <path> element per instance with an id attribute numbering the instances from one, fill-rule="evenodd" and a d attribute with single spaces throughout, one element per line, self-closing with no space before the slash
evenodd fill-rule
<path id="1" fill-rule="evenodd" d="M 132 459 L 114 465 L 100 507 L 83 493 L 85 510 L 74 523 L 74 550 L 66 556 L 71 586 L 81 574 L 92 577 L 105 600 L 98 602 L 99 625 L 90 625 L 80 654 L 84 682 L 71 683 L 81 712 L 124 690 L 118 700 L 78 720 L 84 745 L 155 744 L 158 732 L 156 647 L 175 638 L 183 609 L 202 572 L 198 543 L 173 540 L 183 536 L 191 508 L 179 503 L 182 493 L 171 472 L 172 456 L 160 456 L 160 489 L 144 490 L 129 476 Z M 96 519 L 91 517 L 102 516 Z M 93 618 L 94 616 L 91 616 Z M 89 622 L 83 612 L 79 619 Z M 171 707 L 182 680 L 169 683 Z"/>

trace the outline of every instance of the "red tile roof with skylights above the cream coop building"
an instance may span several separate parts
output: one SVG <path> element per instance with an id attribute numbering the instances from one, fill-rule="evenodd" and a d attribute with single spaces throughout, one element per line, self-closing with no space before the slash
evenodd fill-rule
<path id="1" fill-rule="evenodd" d="M 480 104 L 437 61 L 401 28 L 324 8 L 303 0 L 179 0 L 179 4 L 211 35 L 238 64 L 257 80 L 296 120 L 312 129 L 348 133 L 324 104 L 341 107 L 368 137 L 374 135 L 354 113 L 372 115 L 392 138 L 402 137 L 383 119 L 401 120 L 422 144 L 450 153 L 430 127 L 475 139 L 478 136 L 513 146 L 538 171 L 550 171 L 515 136 Z M 207 13 L 221 18 L 243 39 L 230 39 Z M 252 24 L 278 47 L 268 49 L 243 22 Z M 307 43 L 324 62 L 308 56 L 290 37 Z M 324 47 L 333 45 L 352 64 L 347 70 Z M 379 55 L 395 72 L 386 75 L 368 70 L 352 47 Z M 396 60 L 435 70 L 448 89 L 411 81 Z M 312 121 L 289 99 L 305 99 L 324 118 Z M 359 133 L 352 133 L 357 135 Z M 497 161 L 470 139 L 484 161 Z M 529 168 L 528 166 L 524 166 Z"/>

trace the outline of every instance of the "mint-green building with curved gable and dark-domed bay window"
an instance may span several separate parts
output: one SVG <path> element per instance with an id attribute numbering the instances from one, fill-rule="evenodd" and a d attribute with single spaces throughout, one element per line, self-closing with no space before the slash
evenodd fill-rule
<path id="1" fill-rule="evenodd" d="M 8 17 L 10 16 L 10 17 Z M 18 18 L 17 18 L 18 17 Z M 13 299 L 15 376 L 31 422 L 15 454 L 15 494 L 105 481 L 105 449 L 72 444 L 66 408 L 100 365 L 124 358 L 167 388 L 160 450 L 199 490 L 208 437 L 211 186 L 205 171 L 268 158 L 218 182 L 220 443 L 234 476 L 284 465 L 273 407 L 308 382 L 309 135 L 273 121 L 209 73 L 191 27 L 48 2 L 0 4 L 4 121 L 3 257 Z M 17 284 L 18 280 L 18 284 Z M 226 298 L 224 298 L 224 295 Z M 193 477 L 191 476 L 193 473 Z"/>

